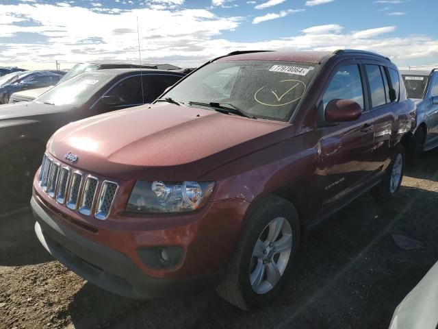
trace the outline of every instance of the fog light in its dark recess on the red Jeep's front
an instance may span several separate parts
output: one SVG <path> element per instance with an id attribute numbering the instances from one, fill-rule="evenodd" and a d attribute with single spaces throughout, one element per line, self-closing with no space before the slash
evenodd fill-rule
<path id="1" fill-rule="evenodd" d="M 179 245 L 141 247 L 137 249 L 137 254 L 144 265 L 151 269 L 170 269 L 181 263 L 183 247 Z"/>

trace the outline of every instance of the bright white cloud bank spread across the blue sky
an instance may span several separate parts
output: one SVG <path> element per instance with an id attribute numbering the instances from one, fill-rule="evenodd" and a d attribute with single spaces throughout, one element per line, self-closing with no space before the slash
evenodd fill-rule
<path id="1" fill-rule="evenodd" d="M 287 14 L 292 12 L 274 12 L 271 19 Z M 84 8 L 76 4 L 60 7 L 47 3 L 17 3 L 0 5 L 0 65 L 24 63 L 27 69 L 33 69 L 35 63 L 42 63 L 38 65 L 44 64 L 47 68 L 59 60 L 66 69 L 76 62 L 91 60 L 138 60 L 137 16 L 142 59 L 150 63 L 170 62 L 193 67 L 220 54 L 250 49 L 363 49 L 382 53 L 401 66 L 422 64 L 420 60 L 433 58 L 436 62 L 438 57 L 438 38 L 409 34 L 394 36 L 392 32 L 396 31 L 396 26 L 374 25 L 370 29 L 351 31 L 333 23 L 309 26 L 302 31 L 290 29 L 281 37 L 260 34 L 256 41 L 236 41 L 227 40 L 225 32 L 238 29 L 245 19 L 221 16 L 213 10 L 179 6 L 160 10 L 147 6 L 121 10 Z M 262 28 L 253 25 L 255 33 Z M 35 38 L 23 40 L 20 38 L 23 34 L 32 34 Z"/>

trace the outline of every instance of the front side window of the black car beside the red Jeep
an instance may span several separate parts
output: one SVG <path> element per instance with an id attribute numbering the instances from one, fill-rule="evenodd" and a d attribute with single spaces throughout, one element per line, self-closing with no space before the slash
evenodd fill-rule
<path id="1" fill-rule="evenodd" d="M 143 103 L 140 75 L 128 77 L 114 86 L 105 96 L 116 97 L 118 106 Z M 146 95 L 144 95 L 146 98 Z"/>

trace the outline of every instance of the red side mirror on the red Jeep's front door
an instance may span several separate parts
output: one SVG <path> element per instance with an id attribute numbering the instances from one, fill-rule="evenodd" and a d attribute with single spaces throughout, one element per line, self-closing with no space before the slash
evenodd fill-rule
<path id="1" fill-rule="evenodd" d="M 324 112 L 326 121 L 355 121 L 362 115 L 361 106 L 351 99 L 333 99 L 329 101 Z"/>

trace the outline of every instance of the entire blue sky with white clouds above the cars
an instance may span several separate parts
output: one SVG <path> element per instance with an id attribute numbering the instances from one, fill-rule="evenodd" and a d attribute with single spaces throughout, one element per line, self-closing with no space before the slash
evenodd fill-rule
<path id="1" fill-rule="evenodd" d="M 1 0 L 0 66 L 138 61 L 139 43 L 142 62 L 181 67 L 251 49 L 364 49 L 438 66 L 437 12 L 437 0 Z"/>

